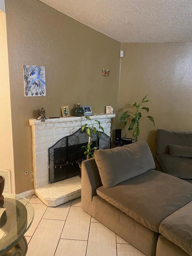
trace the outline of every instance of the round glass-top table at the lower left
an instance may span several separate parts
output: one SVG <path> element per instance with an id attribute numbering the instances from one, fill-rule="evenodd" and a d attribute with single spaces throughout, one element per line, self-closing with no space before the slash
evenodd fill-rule
<path id="1" fill-rule="evenodd" d="M 19 195 L 4 195 L 0 202 L 0 255 L 24 256 L 28 245 L 24 234 L 32 224 L 32 204 Z"/>

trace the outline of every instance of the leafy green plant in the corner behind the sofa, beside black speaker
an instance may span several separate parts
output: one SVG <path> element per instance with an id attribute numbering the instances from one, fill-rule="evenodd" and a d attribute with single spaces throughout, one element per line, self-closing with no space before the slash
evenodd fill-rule
<path id="1" fill-rule="evenodd" d="M 131 112 L 130 110 L 127 110 L 124 113 L 122 113 L 122 115 L 120 117 L 120 120 L 121 120 L 121 123 L 123 123 L 123 128 L 124 129 L 125 129 L 125 126 L 127 125 L 127 122 L 128 122 L 128 120 L 126 120 L 126 119 L 131 119 L 131 124 L 129 125 L 128 131 L 133 130 L 133 128 L 135 126 L 135 130 L 133 132 L 133 136 L 135 138 L 135 141 L 138 141 L 138 137 L 139 137 L 139 134 L 140 134 L 140 122 L 141 122 L 141 120 L 143 120 L 144 118 L 147 117 L 147 118 L 149 118 L 149 120 L 151 120 L 153 122 L 153 126 L 155 125 L 155 122 L 154 122 L 154 119 L 153 119 L 152 116 L 142 117 L 142 114 L 141 114 L 141 110 L 146 110 L 147 113 L 149 112 L 149 107 L 142 107 L 143 103 L 151 102 L 150 100 L 146 99 L 146 97 L 148 95 L 146 95 L 143 98 L 141 103 L 139 102 L 139 104 L 137 104 L 137 102 L 135 102 L 133 104 L 133 107 L 136 108 L 135 113 Z M 125 104 L 123 106 L 129 106 L 129 105 L 131 105 L 131 104 Z"/>

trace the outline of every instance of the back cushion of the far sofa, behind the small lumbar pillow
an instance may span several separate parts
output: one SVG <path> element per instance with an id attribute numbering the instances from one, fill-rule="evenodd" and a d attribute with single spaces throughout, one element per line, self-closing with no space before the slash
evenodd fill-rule
<path id="1" fill-rule="evenodd" d="M 169 145 L 190 147 L 192 145 L 192 132 L 157 130 L 156 153 L 169 153 Z"/>

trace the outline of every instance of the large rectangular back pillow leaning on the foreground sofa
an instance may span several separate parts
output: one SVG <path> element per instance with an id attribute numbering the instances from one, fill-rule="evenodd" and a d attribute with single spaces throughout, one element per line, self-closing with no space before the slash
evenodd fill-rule
<path id="1" fill-rule="evenodd" d="M 155 162 L 146 141 L 113 149 L 98 149 L 94 153 L 101 182 L 105 188 L 155 169 Z"/>

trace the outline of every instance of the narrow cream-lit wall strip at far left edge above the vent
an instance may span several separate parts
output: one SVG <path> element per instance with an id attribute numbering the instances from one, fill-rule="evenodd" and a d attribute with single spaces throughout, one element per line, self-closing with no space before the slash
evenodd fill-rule
<path id="1" fill-rule="evenodd" d="M 9 89 L 9 67 L 5 13 L 0 13 L 0 170 L 11 171 L 12 192 L 14 193 L 13 140 L 11 127 L 11 106 Z"/>

